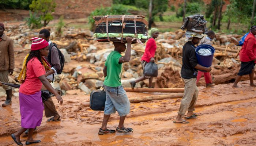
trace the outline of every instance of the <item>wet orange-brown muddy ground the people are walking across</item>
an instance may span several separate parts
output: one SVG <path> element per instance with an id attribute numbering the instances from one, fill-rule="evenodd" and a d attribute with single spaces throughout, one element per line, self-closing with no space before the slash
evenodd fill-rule
<path id="1" fill-rule="evenodd" d="M 60 122 L 46 123 L 43 117 L 35 139 L 38 146 L 253 146 L 256 142 L 256 88 L 249 81 L 240 82 L 241 88 L 231 84 L 199 87 L 196 104 L 199 116 L 189 124 L 174 124 L 181 99 L 153 100 L 131 103 L 125 126 L 131 134 L 98 135 L 103 112 L 81 106 L 89 95 L 65 95 L 64 104 L 53 101 L 61 114 Z M 152 93 L 151 93 L 152 94 Z M 150 93 L 127 92 L 128 97 Z M 3 102 L 4 98 L 1 98 Z M 108 128 L 115 129 L 118 115 L 113 114 Z M 0 107 L 0 145 L 15 146 L 10 135 L 20 128 L 19 99 L 14 97 L 10 107 Z M 25 143 L 26 137 L 21 137 Z"/>

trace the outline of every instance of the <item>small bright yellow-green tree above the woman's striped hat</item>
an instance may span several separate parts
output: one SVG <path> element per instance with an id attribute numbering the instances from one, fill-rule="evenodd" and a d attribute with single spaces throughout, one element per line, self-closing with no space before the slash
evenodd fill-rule
<path id="1" fill-rule="evenodd" d="M 44 26 L 53 19 L 51 13 L 54 12 L 55 7 L 56 3 L 54 0 L 33 0 L 32 4 L 29 5 L 31 11 L 37 12 L 40 15 L 41 20 L 44 21 Z"/>

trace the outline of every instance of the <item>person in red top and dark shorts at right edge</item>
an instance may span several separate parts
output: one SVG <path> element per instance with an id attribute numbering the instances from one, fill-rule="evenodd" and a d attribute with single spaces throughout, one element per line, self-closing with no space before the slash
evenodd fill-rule
<path id="1" fill-rule="evenodd" d="M 250 32 L 247 35 L 244 45 L 240 51 L 239 57 L 241 61 L 241 68 L 237 74 L 236 80 L 232 87 L 238 87 L 237 83 L 240 81 L 242 76 L 249 74 L 250 85 L 256 87 L 253 83 L 254 66 L 256 63 L 256 26 L 250 28 Z"/>

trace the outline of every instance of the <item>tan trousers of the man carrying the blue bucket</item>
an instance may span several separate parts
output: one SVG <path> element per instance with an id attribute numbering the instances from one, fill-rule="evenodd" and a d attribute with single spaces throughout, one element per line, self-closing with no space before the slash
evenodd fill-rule
<path id="1" fill-rule="evenodd" d="M 184 116 L 186 111 L 195 111 L 198 89 L 196 87 L 196 78 L 185 79 L 184 96 L 181 99 L 180 110 L 178 114 Z"/>

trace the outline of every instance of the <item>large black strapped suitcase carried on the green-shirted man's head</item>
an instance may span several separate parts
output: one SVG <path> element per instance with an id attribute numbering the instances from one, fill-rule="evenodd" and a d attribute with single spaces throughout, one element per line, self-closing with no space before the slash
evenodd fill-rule
<path id="1" fill-rule="evenodd" d="M 94 33 L 107 33 L 108 26 L 108 33 L 146 34 L 148 27 L 147 20 L 144 18 L 145 16 L 143 15 L 94 16 Z"/>

